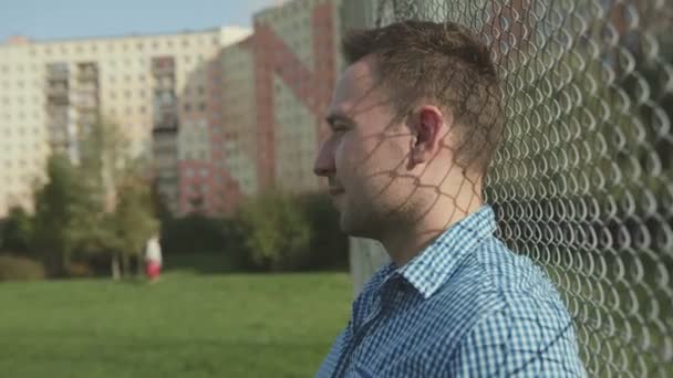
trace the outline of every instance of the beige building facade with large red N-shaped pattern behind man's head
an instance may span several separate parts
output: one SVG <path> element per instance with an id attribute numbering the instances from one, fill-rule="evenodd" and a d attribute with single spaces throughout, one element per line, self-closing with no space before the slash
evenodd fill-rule
<path id="1" fill-rule="evenodd" d="M 294 0 L 253 17 L 261 188 L 319 188 L 312 167 L 339 72 L 340 6 L 340 0 Z"/>

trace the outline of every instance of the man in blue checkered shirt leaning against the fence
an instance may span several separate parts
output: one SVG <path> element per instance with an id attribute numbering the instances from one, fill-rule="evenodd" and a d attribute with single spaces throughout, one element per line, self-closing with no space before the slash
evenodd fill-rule
<path id="1" fill-rule="evenodd" d="M 318 377 L 584 376 L 545 274 L 483 203 L 504 116 L 489 50 L 453 23 L 354 32 L 315 174 L 350 235 L 392 263 L 353 303 Z"/>

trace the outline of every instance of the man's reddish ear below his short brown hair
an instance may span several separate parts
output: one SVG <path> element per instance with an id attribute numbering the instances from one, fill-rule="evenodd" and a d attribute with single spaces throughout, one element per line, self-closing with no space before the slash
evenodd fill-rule
<path id="1" fill-rule="evenodd" d="M 445 137 L 445 115 L 436 106 L 424 105 L 411 115 L 412 145 L 410 166 L 427 164 L 442 147 Z"/>

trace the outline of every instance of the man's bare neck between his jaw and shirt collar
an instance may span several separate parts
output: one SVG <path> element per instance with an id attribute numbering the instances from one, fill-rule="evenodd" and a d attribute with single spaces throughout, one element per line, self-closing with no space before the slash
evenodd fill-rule
<path id="1" fill-rule="evenodd" d="M 435 206 L 418 221 L 390 230 L 380 241 L 395 265 L 404 266 L 452 225 L 480 207 L 482 201 L 464 208 L 454 204 Z"/>

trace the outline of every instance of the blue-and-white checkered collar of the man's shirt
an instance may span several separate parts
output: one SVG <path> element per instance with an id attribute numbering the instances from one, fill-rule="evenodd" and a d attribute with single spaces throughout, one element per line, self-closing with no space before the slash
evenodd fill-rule
<path id="1" fill-rule="evenodd" d="M 424 298 L 431 297 L 455 272 L 463 256 L 496 230 L 493 209 L 485 204 L 448 228 L 406 265 L 387 270 L 402 275 Z"/>

